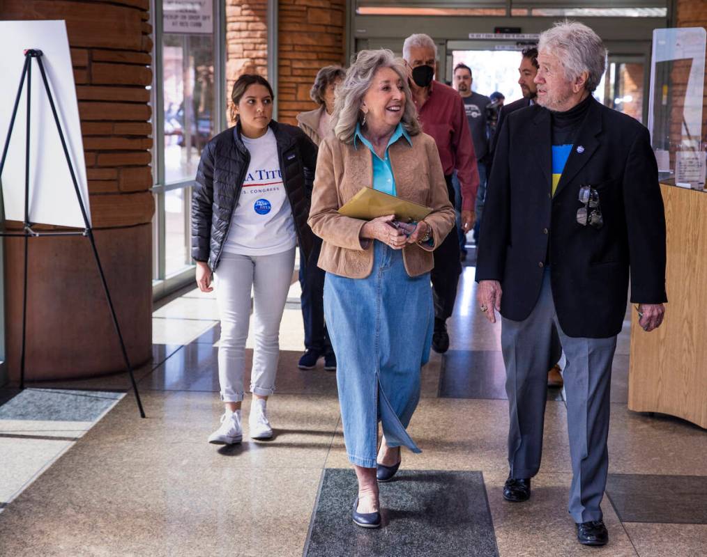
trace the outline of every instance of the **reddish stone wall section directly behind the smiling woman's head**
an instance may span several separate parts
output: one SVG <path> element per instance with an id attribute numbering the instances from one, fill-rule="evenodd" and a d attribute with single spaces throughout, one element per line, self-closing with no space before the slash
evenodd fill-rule
<path id="1" fill-rule="evenodd" d="M 346 0 L 280 0 L 279 120 L 316 107 L 309 92 L 322 66 L 344 64 Z"/>

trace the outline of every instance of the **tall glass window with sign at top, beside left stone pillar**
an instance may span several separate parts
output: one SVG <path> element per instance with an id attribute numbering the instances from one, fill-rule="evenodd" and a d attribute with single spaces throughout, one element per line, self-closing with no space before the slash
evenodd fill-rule
<path id="1" fill-rule="evenodd" d="M 153 285 L 194 279 L 191 196 L 201 150 L 225 123 L 223 0 L 152 0 L 155 29 Z"/>

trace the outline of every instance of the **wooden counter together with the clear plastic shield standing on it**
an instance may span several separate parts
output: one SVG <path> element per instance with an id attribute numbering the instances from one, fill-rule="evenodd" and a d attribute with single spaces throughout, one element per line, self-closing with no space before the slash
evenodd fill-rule
<path id="1" fill-rule="evenodd" d="M 665 205 L 665 319 L 646 333 L 631 312 L 629 409 L 707 428 L 707 196 L 703 28 L 653 33 L 648 128 Z M 681 187 L 674 187 L 681 186 Z M 688 188 L 688 189 L 683 189 Z"/>

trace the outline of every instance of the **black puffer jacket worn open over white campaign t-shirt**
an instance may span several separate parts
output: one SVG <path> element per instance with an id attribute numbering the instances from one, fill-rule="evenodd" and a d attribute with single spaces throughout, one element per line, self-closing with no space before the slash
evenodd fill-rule
<path id="1" fill-rule="evenodd" d="M 305 184 L 305 169 L 314 174 L 317 165 L 317 147 L 306 134 L 295 126 L 271 121 L 270 128 L 277 140 L 280 170 L 285 191 L 292 208 L 300 248 L 309 258 L 315 239 L 307 224 L 311 186 Z M 250 164 L 250 152 L 233 128 L 209 141 L 201 152 L 197 171 L 197 186 L 192 194 L 192 257 L 207 261 L 216 270 L 223 243 L 228 237 L 233 210 L 238 205 L 240 191 Z"/>

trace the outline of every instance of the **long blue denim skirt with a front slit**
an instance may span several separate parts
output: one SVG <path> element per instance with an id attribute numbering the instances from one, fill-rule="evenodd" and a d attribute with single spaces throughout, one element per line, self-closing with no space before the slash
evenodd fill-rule
<path id="1" fill-rule="evenodd" d="M 409 277 L 402 250 L 374 241 L 373 251 L 368 277 L 327 272 L 324 286 L 346 454 L 367 468 L 375 467 L 378 421 L 389 446 L 421 452 L 406 428 L 420 398 L 434 326 L 429 273 Z"/>

